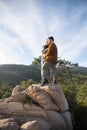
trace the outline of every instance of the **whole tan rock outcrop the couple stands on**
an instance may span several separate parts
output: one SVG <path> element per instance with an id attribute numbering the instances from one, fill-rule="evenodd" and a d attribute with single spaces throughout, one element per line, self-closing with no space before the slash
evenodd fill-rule
<path id="1" fill-rule="evenodd" d="M 58 85 L 17 85 L 0 100 L 0 130 L 72 130 L 67 100 Z"/>

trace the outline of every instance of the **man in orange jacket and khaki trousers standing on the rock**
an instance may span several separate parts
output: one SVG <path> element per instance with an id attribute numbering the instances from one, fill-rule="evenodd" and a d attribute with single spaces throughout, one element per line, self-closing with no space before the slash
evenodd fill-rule
<path id="1" fill-rule="evenodd" d="M 48 46 L 48 48 L 45 54 L 43 54 L 44 64 L 41 68 L 42 86 L 49 83 L 49 81 L 51 83 L 56 83 L 55 66 L 57 64 L 58 51 L 57 46 L 54 43 L 54 38 L 52 36 L 47 38 L 46 45 Z M 47 75 L 48 71 L 50 72 L 49 80 Z"/>

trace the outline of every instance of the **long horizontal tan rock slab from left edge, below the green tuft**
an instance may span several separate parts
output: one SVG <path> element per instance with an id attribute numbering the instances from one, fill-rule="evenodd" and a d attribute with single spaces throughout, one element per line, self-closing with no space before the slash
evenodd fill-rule
<path id="1" fill-rule="evenodd" d="M 23 104 L 22 102 L 10 102 L 10 103 L 1 103 L 0 104 L 0 114 L 5 114 L 9 116 L 25 116 L 25 117 L 40 117 L 47 118 L 45 111 L 42 108 L 30 105 Z"/>

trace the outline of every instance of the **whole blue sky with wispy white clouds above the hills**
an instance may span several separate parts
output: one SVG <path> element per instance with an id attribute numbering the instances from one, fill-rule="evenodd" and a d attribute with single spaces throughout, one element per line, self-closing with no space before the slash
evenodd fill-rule
<path id="1" fill-rule="evenodd" d="M 49 36 L 58 57 L 87 67 L 87 0 L 0 0 L 0 64 L 30 65 Z"/>

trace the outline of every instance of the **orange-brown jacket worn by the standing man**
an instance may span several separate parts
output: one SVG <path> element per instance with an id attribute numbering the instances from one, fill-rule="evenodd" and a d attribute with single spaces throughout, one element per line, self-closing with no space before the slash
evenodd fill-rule
<path id="1" fill-rule="evenodd" d="M 52 64 L 57 63 L 57 47 L 55 43 L 50 43 L 45 53 L 45 61 L 49 61 Z"/>

